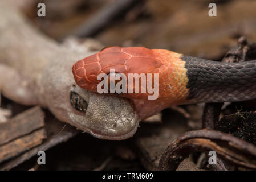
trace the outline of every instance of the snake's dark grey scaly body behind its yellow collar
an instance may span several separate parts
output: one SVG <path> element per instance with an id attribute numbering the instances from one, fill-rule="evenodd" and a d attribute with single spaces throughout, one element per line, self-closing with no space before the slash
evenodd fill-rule
<path id="1" fill-rule="evenodd" d="M 256 98 L 256 60 L 222 63 L 182 56 L 189 101 L 236 102 Z"/>

